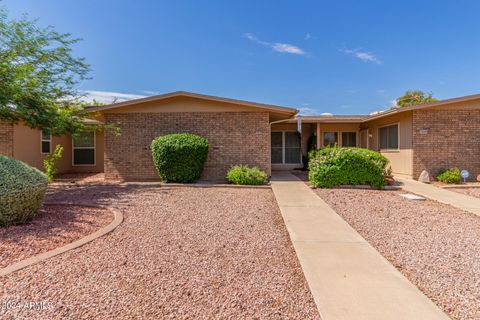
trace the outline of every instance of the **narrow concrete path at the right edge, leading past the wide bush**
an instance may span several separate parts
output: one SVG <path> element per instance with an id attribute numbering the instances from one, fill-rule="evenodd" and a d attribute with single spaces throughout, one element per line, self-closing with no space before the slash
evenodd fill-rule
<path id="1" fill-rule="evenodd" d="M 402 189 L 424 196 L 435 201 L 449 204 L 453 207 L 469 211 L 480 216 L 480 199 L 466 194 L 461 194 L 448 189 L 435 187 L 431 184 L 421 183 L 413 179 L 395 177 L 395 180 L 401 182 Z"/>

